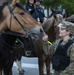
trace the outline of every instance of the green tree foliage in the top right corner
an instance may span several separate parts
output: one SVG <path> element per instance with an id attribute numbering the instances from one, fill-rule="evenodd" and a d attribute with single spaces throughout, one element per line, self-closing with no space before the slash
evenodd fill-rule
<path id="1" fill-rule="evenodd" d="M 74 0 L 42 0 L 42 5 L 47 9 L 49 7 L 56 9 L 59 5 L 62 5 L 70 15 L 74 13 Z"/>

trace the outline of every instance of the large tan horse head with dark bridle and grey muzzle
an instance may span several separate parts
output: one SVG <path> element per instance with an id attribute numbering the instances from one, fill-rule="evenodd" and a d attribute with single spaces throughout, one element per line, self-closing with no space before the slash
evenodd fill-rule
<path id="1" fill-rule="evenodd" d="M 12 5 L 12 3 L 14 4 Z M 3 3 L 0 6 L 0 32 L 9 29 L 24 36 L 26 34 L 34 37 L 46 35 L 42 26 L 31 17 L 23 5 L 14 0 L 12 3 Z"/>

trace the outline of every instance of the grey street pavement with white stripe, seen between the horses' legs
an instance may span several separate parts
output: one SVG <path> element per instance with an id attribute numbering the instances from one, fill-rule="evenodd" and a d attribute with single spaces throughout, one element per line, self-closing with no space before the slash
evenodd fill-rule
<path id="1" fill-rule="evenodd" d="M 21 62 L 22 62 L 22 67 L 25 70 L 25 73 L 22 75 L 39 75 L 38 58 L 22 57 Z M 53 73 L 52 68 L 50 69 L 51 69 L 51 73 Z M 17 73 L 17 66 L 15 62 L 12 71 L 13 71 L 13 75 L 19 75 Z"/>

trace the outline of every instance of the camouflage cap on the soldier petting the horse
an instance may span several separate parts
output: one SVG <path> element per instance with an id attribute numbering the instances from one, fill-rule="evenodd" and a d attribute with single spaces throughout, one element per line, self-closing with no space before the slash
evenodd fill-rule
<path id="1" fill-rule="evenodd" d="M 66 30 L 70 31 L 72 35 L 74 35 L 74 23 L 63 21 L 58 25 L 60 28 L 65 28 Z"/>

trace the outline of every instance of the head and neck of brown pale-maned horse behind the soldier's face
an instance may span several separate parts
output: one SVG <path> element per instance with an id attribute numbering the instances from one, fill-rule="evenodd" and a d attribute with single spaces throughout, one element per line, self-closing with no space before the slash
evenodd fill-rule
<path id="1" fill-rule="evenodd" d="M 64 18 L 61 14 L 51 14 L 51 17 L 48 18 L 48 20 L 42 24 L 42 27 L 44 31 L 48 34 L 48 39 L 51 42 L 54 42 L 56 38 L 58 38 L 58 28 L 57 25 L 61 22 L 63 22 Z"/>

